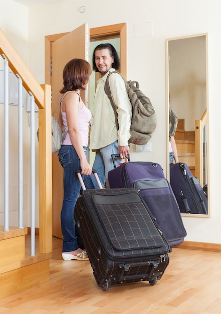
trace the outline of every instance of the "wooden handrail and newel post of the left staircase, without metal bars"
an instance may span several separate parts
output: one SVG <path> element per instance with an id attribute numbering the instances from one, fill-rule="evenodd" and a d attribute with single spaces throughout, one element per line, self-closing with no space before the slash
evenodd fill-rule
<path id="1" fill-rule="evenodd" d="M 0 28 L 0 54 L 39 107 L 39 251 L 52 252 L 51 86 L 40 85 Z"/>

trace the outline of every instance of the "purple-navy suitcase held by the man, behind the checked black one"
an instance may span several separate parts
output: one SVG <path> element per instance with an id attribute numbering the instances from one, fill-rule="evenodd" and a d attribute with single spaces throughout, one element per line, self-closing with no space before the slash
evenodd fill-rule
<path id="1" fill-rule="evenodd" d="M 118 154 L 112 156 L 119 158 Z M 151 162 L 129 162 L 110 171 L 111 188 L 136 188 L 147 204 L 170 246 L 179 245 L 186 236 L 179 206 L 162 167 Z"/>

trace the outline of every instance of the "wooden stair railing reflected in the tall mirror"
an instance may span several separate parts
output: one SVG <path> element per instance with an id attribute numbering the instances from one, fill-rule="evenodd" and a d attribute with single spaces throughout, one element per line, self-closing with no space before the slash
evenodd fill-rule
<path id="1" fill-rule="evenodd" d="M 201 186 L 207 184 L 207 114 L 195 120 L 195 176 Z"/>

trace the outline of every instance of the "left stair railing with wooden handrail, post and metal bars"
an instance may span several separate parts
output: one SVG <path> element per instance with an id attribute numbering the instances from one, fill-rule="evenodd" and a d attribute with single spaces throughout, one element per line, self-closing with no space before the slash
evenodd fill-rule
<path id="1" fill-rule="evenodd" d="M 40 85 L 25 62 L 19 56 L 4 32 L 0 29 L 0 54 L 4 63 L 4 123 L 5 123 L 5 161 L 4 161 L 4 231 L 9 231 L 9 79 L 8 67 L 19 80 L 18 108 L 22 110 L 21 84 L 31 96 L 31 256 L 35 256 L 35 196 L 39 190 L 39 253 L 52 252 L 52 143 L 51 143 L 51 86 Z M 35 186 L 35 103 L 39 108 L 39 187 Z M 21 111 L 19 113 L 19 221 L 23 228 L 23 131 Z M 15 157 L 16 159 L 16 157 Z M 26 165 L 25 165 L 26 166 Z M 15 226 L 14 226 L 15 227 Z M 27 226 L 30 227 L 30 226 Z"/>

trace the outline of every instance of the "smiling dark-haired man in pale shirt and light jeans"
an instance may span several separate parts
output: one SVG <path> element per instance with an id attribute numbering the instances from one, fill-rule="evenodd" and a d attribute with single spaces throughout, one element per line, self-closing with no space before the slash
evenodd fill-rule
<path id="1" fill-rule="evenodd" d="M 109 84 L 116 105 L 119 129 L 115 123 L 114 110 L 104 91 L 104 84 L 110 71 L 119 69 L 120 61 L 115 48 L 111 44 L 98 45 L 93 53 L 93 70 L 100 72 L 94 97 L 94 122 L 90 132 L 90 149 L 96 150 L 93 168 L 106 188 L 109 188 L 108 172 L 114 168 L 111 154 L 119 153 L 121 159 L 130 155 L 128 139 L 132 106 L 126 91 L 125 83 L 120 75 L 112 74 Z M 119 160 L 119 163 L 122 162 Z M 117 163 L 117 165 L 119 164 Z"/>

